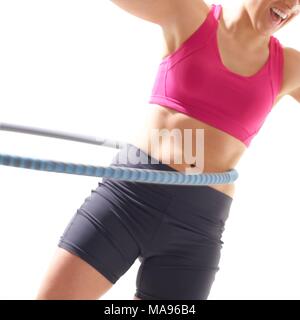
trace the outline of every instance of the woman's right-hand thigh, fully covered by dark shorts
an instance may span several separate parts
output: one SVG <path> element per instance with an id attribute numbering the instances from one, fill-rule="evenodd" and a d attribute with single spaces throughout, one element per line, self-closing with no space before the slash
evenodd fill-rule
<path id="1" fill-rule="evenodd" d="M 232 199 L 208 186 L 173 190 L 173 200 L 140 259 L 135 295 L 146 300 L 206 300 L 219 270 Z"/>

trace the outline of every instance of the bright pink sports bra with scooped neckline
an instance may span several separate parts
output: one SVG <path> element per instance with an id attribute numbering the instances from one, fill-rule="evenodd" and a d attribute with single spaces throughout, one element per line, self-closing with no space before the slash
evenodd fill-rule
<path id="1" fill-rule="evenodd" d="M 269 58 L 252 76 L 228 70 L 216 37 L 221 10 L 213 4 L 200 27 L 161 60 L 149 103 L 199 119 L 248 147 L 280 91 L 283 47 L 271 36 Z"/>

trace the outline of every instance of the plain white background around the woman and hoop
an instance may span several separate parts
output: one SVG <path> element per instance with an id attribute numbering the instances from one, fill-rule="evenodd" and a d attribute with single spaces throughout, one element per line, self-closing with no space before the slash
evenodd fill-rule
<path id="1" fill-rule="evenodd" d="M 299 50 L 297 20 L 275 36 Z M 129 139 L 149 110 L 162 39 L 158 26 L 110 1 L 1 0 L 0 121 Z M 299 104 L 283 98 L 236 167 L 209 299 L 300 298 L 299 121 Z M 108 165 L 116 152 L 0 132 L 0 153 Z M 35 298 L 60 235 L 98 181 L 0 166 L 0 299 Z M 132 299 L 138 267 L 102 299 Z"/>

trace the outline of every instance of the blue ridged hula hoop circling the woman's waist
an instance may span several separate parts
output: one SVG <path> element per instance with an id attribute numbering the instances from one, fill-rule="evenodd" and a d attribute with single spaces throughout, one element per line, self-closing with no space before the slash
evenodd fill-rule
<path id="1" fill-rule="evenodd" d="M 128 145 L 128 143 L 119 140 L 103 139 L 93 136 L 8 123 L 0 123 L 0 130 L 72 140 L 115 149 L 122 149 Z M 119 166 L 92 166 L 46 159 L 25 158 L 2 153 L 0 153 L 0 165 L 56 173 L 104 177 L 115 180 L 172 185 L 230 184 L 238 178 L 238 172 L 235 169 L 230 169 L 221 173 L 210 172 L 185 174 L 177 171 L 136 169 Z"/>

